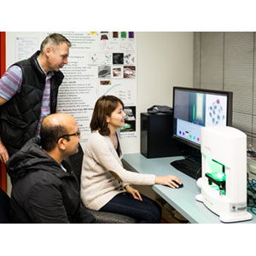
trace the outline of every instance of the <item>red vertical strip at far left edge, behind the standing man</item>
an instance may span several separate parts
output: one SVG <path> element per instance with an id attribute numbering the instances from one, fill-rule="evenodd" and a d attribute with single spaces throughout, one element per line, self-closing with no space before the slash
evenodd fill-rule
<path id="1" fill-rule="evenodd" d="M 0 77 L 3 76 L 6 69 L 6 43 L 5 32 L 0 32 Z M 6 170 L 4 163 L 0 162 L 0 187 L 6 192 L 7 190 Z"/>

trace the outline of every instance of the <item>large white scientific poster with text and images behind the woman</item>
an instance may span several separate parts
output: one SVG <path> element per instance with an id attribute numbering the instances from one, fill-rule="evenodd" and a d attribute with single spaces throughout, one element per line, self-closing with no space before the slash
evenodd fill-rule
<path id="1" fill-rule="evenodd" d="M 48 32 L 49 33 L 49 32 Z M 137 41 L 135 32 L 60 32 L 72 43 L 58 97 L 58 111 L 71 113 L 90 136 L 90 119 L 98 97 L 118 96 L 125 104 L 121 137 L 136 137 Z"/>

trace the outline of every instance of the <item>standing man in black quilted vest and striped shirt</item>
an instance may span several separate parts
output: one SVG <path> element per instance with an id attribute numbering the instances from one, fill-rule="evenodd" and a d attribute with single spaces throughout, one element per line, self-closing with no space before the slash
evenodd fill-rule
<path id="1" fill-rule="evenodd" d="M 50 34 L 31 58 L 9 67 L 0 79 L 0 160 L 9 160 L 30 138 L 39 135 L 42 120 L 55 113 L 71 43 Z"/>

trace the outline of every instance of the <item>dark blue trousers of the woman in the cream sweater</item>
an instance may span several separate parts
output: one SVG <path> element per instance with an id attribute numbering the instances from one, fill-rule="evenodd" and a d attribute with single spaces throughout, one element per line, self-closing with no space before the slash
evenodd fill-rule
<path id="1" fill-rule="evenodd" d="M 141 196 L 143 201 L 134 199 L 129 193 L 120 193 L 115 195 L 100 211 L 137 218 L 139 223 L 160 223 L 160 206 L 147 196 Z"/>

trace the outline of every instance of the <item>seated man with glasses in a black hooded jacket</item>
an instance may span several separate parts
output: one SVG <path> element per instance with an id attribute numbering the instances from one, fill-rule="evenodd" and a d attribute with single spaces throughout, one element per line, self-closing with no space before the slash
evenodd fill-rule
<path id="1" fill-rule="evenodd" d="M 68 113 L 45 117 L 40 137 L 28 141 L 7 162 L 15 177 L 10 200 L 14 223 L 94 223 L 81 204 L 79 182 L 64 160 L 78 153 L 81 137 Z"/>

